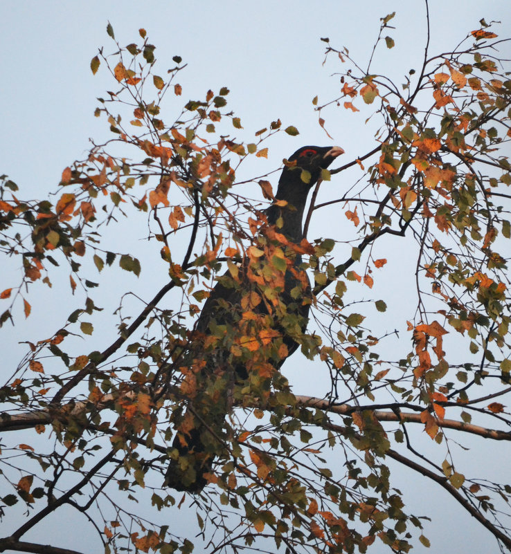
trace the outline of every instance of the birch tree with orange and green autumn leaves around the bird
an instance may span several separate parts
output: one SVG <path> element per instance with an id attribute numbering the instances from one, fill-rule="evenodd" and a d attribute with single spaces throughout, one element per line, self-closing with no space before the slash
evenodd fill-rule
<path id="1" fill-rule="evenodd" d="M 375 48 L 393 47 L 386 36 L 392 17 L 382 18 Z M 111 26 L 107 33 L 115 41 Z M 422 519 L 404 510 L 393 488 L 392 461 L 447 490 L 511 549 L 510 486 L 464 474 L 463 452 L 455 449 L 474 436 L 511 438 L 503 403 L 511 390 L 503 254 L 511 235 L 511 82 L 498 54 L 504 41 L 481 20 L 449 53 L 431 55 L 428 45 L 422 66 L 396 85 L 373 70 L 372 58 L 363 68 L 323 39 L 326 55 L 339 59 L 341 90 L 322 104 L 314 98 L 319 124 L 328 128 L 326 118 L 339 107 L 368 111 L 379 130 L 364 155 L 323 172 L 339 197 L 317 204 L 316 187 L 305 218 L 307 237 L 312 214 L 335 205 L 353 224 L 352 235 L 294 244 L 278 233 L 278 222 L 267 227 L 265 205 L 248 198 L 237 179 L 251 158 L 267 156 L 283 124 L 271 122 L 248 144 L 230 138 L 242 120 L 226 108 L 225 87 L 189 100 L 170 122 L 166 114 L 182 96 L 182 60 L 175 56 L 161 77 L 155 47 L 143 29 L 140 37 L 125 48 L 115 41 L 114 54 L 100 50 L 92 59 L 93 73 L 106 66 L 117 86 L 96 110 L 114 138 L 64 169 L 57 201 L 21 200 L 17 185 L 2 177 L 0 246 L 22 272 L 1 292 L 0 322 L 18 320 L 19 311 L 29 317 L 30 291 L 60 273 L 69 275 L 76 308 L 63 326 L 41 329 L 40 339 L 27 343 L 1 388 L 0 427 L 9 441 L 2 443 L 2 510 L 8 517 L 24 504 L 27 513 L 0 550 L 71 552 L 24 540 L 70 507 L 88 518 L 106 552 L 190 552 L 190 537 L 168 521 L 172 506 L 191 499 L 210 552 L 364 552 L 381 542 L 406 552 L 415 535 L 423 544 L 428 539 Z M 170 108 L 163 104 L 168 95 Z M 284 131 L 298 133 L 293 126 Z M 246 181 L 272 201 L 269 176 Z M 166 282 L 144 291 L 138 311 L 127 284 L 116 340 L 95 350 L 76 338 L 98 329 L 100 302 L 119 301 L 118 290 L 100 297 L 108 272 L 121 268 L 143 279 L 147 267 L 127 243 L 138 217 L 147 221 L 145 248 L 161 256 L 152 271 Z M 395 293 L 387 263 L 395 245 L 413 259 L 415 270 L 401 275 L 415 290 L 413 305 L 402 306 Z M 302 358 L 295 354 L 281 372 L 282 341 L 267 332 L 253 303 L 278 302 L 272 283 L 291 251 L 314 276 L 314 315 L 307 332 L 297 325 Z M 201 303 L 226 268 L 228 285 L 239 286 L 242 260 L 258 298 L 242 297 L 239 328 L 219 325 L 197 341 L 192 329 Z M 94 266 L 99 282 L 87 277 Z M 368 299 L 379 281 L 384 298 Z M 170 307 L 162 302 L 168 296 Z M 382 332 L 382 320 L 387 328 L 407 320 L 407 334 Z M 172 436 L 186 425 L 190 398 L 208 400 L 214 416 L 225 389 L 215 379 L 197 385 L 197 373 L 217 349 L 246 365 L 249 377 L 229 391 L 233 411 L 215 437 L 210 484 L 181 499 L 162 486 L 169 459 L 180 461 Z M 186 364 L 184 351 L 193 352 Z M 303 356 L 328 371 L 323 398 L 292 387 L 286 367 Z M 32 438 L 20 444 L 15 430 Z M 145 504 L 154 507 L 150 520 L 140 511 Z"/>

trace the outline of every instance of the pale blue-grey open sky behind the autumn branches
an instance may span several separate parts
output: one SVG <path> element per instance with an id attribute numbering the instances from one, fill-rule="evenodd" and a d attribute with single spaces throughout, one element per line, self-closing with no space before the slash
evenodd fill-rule
<path id="1" fill-rule="evenodd" d="M 1 8 L 0 173 L 18 184 L 19 196 L 25 198 L 43 198 L 54 191 L 62 169 L 86 154 L 89 137 L 108 136 L 105 121 L 95 118 L 93 111 L 96 98 L 112 88 L 111 77 L 101 68 L 93 76 L 89 68 L 98 47 L 105 46 L 108 53 L 114 50 L 106 34 L 107 21 L 123 45 L 138 41 L 138 28 L 145 28 L 163 68 L 172 65 L 172 56 L 183 58 L 188 64 L 179 75 L 183 103 L 201 98 L 207 89 L 228 86 L 228 106 L 244 127 L 237 138 L 251 141 L 254 131 L 276 118 L 285 127 L 294 124 L 300 135 L 280 133 L 272 139 L 268 160 L 258 160 L 261 173 L 276 169 L 283 157 L 304 144 L 333 142 L 346 150 L 346 160 L 367 149 L 370 132 L 363 118 L 345 110 L 331 111 L 328 129 L 333 141 L 317 124 L 312 98 L 319 95 L 320 102 L 328 100 L 339 90 L 339 79 L 332 77 L 334 64 L 322 66 L 325 43 L 321 37 L 329 37 L 332 46 L 347 46 L 352 57 L 365 63 L 379 18 L 395 11 L 391 22 L 395 30 L 386 34 L 396 46 L 391 51 L 382 49 L 375 71 L 399 83 L 410 68 L 420 66 L 426 39 L 420 0 L 2 0 Z M 470 30 L 479 28 L 481 17 L 487 22 L 502 21 L 496 32 L 511 34 L 509 0 L 431 0 L 430 9 L 431 53 L 458 44 Z M 352 230 L 348 223 L 346 230 Z M 0 273 L 0 290 L 8 286 L 3 285 Z M 39 306 L 44 310 L 43 301 Z M 39 325 L 41 317 L 36 303 L 32 325 Z M 8 332 L 14 333 L 13 338 L 17 330 Z M 400 479 L 404 491 L 409 479 L 417 477 L 404 472 Z M 461 508 L 439 506 L 447 498 L 433 484 L 414 482 L 413 490 L 417 496 L 407 498 L 414 513 L 438 510 L 441 514 L 437 518 L 430 514 L 433 524 L 426 535 L 431 553 L 496 551 L 493 539 Z M 424 548 L 418 545 L 414 551 L 423 553 Z"/>

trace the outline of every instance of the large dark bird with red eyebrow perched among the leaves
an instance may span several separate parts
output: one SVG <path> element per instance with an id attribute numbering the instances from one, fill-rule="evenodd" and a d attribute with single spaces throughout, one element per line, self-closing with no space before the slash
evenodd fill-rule
<path id="1" fill-rule="evenodd" d="M 298 348 L 295 338 L 307 326 L 310 284 L 298 268 L 300 250 L 293 245 L 303 238 L 302 219 L 310 189 L 321 170 L 343 152 L 341 147 L 305 146 L 289 158 L 275 201 L 266 210 L 267 226 L 261 231 L 265 233 L 262 243 L 277 241 L 286 259 L 277 260 L 280 269 L 272 274 L 271 265 L 254 268 L 260 259 L 249 263 L 245 257 L 238 275 L 234 270 L 234 275 L 231 271 L 220 277 L 206 299 L 196 326 L 200 348 L 183 357 L 192 366 L 188 377 L 193 385 L 172 442 L 179 457 L 170 460 L 164 486 L 201 492 L 207 483 L 204 474 L 223 450 L 224 421 L 233 403 L 234 384 L 249 386 L 259 398 L 269 394 L 271 370 L 279 369 Z M 278 244 L 278 234 L 285 245 Z M 267 257 L 268 251 L 261 259 Z"/>

